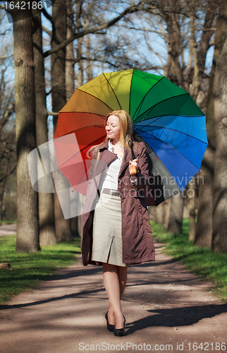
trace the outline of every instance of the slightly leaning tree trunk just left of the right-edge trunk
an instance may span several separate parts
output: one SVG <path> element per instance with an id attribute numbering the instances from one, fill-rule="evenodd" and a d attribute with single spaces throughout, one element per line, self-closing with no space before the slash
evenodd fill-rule
<path id="1" fill-rule="evenodd" d="M 223 4 L 221 6 L 223 8 Z M 221 8 L 220 8 L 221 15 Z M 227 24 L 223 16 L 219 16 L 216 24 L 214 58 L 210 73 L 209 92 L 207 97 L 207 139 L 209 145 L 202 160 L 198 199 L 198 217 L 195 232 L 195 245 L 211 248 L 212 215 L 213 215 L 213 181 L 215 158 L 215 121 L 214 121 L 214 72 L 223 38 L 226 35 Z"/>

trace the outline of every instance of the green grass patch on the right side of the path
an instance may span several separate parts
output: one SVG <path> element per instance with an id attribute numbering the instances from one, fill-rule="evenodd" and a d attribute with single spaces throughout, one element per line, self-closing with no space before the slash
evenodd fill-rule
<path id="1" fill-rule="evenodd" d="M 215 284 L 214 294 L 227 304 L 227 253 L 213 253 L 188 241 L 188 220 L 183 221 L 182 234 L 170 234 L 166 228 L 151 222 L 153 237 L 167 244 L 164 253 Z"/>

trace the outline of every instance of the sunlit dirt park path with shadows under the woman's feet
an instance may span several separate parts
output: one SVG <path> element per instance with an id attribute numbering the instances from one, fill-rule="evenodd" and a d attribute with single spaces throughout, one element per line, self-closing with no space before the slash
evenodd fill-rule
<path id="1" fill-rule="evenodd" d="M 227 306 L 155 246 L 157 261 L 128 271 L 125 337 L 106 330 L 102 268 L 78 258 L 1 309 L 0 352 L 225 352 Z"/>

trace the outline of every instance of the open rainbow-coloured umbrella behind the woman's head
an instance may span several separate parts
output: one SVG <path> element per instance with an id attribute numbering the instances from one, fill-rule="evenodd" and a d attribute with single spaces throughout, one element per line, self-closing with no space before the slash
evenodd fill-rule
<path id="1" fill-rule="evenodd" d="M 205 116 L 189 93 L 166 77 L 135 69 L 102 73 L 77 88 L 59 112 L 54 139 L 73 133 L 78 142 L 68 153 L 61 143 L 56 150 L 59 169 L 73 189 L 85 194 L 87 150 L 106 138 L 105 116 L 118 109 L 130 114 L 135 140 L 146 145 L 151 204 L 183 191 L 207 148 Z"/>

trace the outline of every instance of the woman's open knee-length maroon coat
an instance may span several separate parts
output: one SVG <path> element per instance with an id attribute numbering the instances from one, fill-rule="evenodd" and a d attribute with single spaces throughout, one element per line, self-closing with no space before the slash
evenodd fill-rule
<path id="1" fill-rule="evenodd" d="M 145 197 L 140 190 L 142 186 L 147 184 L 149 178 L 144 143 L 135 143 L 133 150 L 135 157 L 138 156 L 139 158 L 137 183 L 133 186 L 130 182 L 128 164 L 130 160 L 133 160 L 130 148 L 125 148 L 124 150 L 123 161 L 118 174 L 118 192 L 121 193 L 123 263 L 154 261 L 154 244 L 147 205 Z M 99 152 L 99 163 L 96 163 L 96 166 L 91 169 L 85 207 L 81 219 L 81 252 L 84 265 L 88 263 L 93 265 L 101 264 L 91 260 L 94 217 L 92 205 L 95 198 L 97 198 L 97 186 L 99 185 L 101 172 L 106 167 L 106 164 L 109 165 L 116 157 L 115 153 L 108 150 L 108 140 L 99 147 Z"/>

